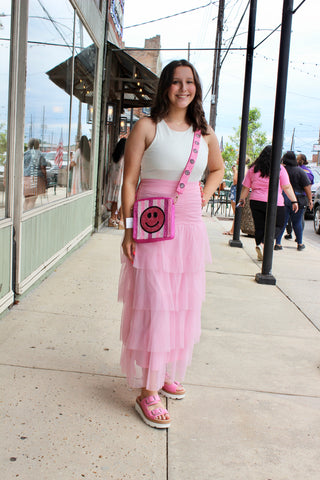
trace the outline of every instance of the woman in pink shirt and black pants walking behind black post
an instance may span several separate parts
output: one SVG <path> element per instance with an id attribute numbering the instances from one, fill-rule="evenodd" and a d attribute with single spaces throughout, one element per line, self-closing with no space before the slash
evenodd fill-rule
<path id="1" fill-rule="evenodd" d="M 243 206 L 249 191 L 250 194 L 250 208 L 255 227 L 255 241 L 256 252 L 258 260 L 263 260 L 263 251 L 261 244 L 264 242 L 264 230 L 267 213 L 268 192 L 269 192 L 269 177 L 271 170 L 271 152 L 272 146 L 268 145 L 260 153 L 259 157 L 249 168 L 244 181 L 242 183 L 241 195 L 239 204 Z M 298 210 L 298 202 L 294 191 L 290 185 L 289 177 L 282 165 L 280 165 L 279 186 L 278 186 L 278 200 L 277 200 L 277 216 L 276 216 L 276 230 L 275 237 L 281 231 L 284 224 L 284 200 L 281 195 L 283 190 L 292 202 L 294 211 Z"/>

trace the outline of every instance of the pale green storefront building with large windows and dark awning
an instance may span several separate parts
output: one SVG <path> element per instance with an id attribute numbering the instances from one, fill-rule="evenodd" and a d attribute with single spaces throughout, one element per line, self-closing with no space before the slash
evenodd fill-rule
<path id="1" fill-rule="evenodd" d="M 1 4 L 0 313 L 99 228 L 122 112 L 151 104 L 156 75 L 121 50 L 123 9 Z"/>

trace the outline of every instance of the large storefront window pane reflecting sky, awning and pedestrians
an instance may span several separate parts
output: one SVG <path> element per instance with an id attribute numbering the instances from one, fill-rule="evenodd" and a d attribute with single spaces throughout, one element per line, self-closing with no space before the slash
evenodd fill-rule
<path id="1" fill-rule="evenodd" d="M 96 47 L 69 1 L 30 0 L 24 211 L 90 188 L 90 145 L 82 137 L 91 138 L 86 115 L 95 60 Z"/>

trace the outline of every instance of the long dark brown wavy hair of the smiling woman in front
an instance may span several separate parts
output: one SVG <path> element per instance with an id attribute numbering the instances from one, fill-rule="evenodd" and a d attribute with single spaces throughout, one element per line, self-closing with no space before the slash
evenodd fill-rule
<path id="1" fill-rule="evenodd" d="M 170 108 L 168 90 L 172 85 L 174 72 L 177 67 L 190 67 L 196 86 L 195 97 L 187 109 L 187 121 L 192 125 L 194 131 L 200 129 L 202 135 L 208 135 L 208 123 L 202 107 L 202 87 L 199 75 L 194 66 L 187 60 L 174 60 L 162 70 L 154 104 L 151 108 L 151 118 L 155 123 L 158 123 L 168 115 Z"/>

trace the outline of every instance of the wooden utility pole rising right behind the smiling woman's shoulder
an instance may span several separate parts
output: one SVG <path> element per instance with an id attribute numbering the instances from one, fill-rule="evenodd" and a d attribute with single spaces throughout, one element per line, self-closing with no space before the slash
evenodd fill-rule
<path id="1" fill-rule="evenodd" d="M 220 78 L 220 69 L 221 69 L 220 58 L 221 58 L 221 43 L 222 43 L 223 19 L 224 19 L 224 3 L 225 3 L 225 0 L 219 0 L 216 45 L 215 45 L 214 59 L 213 59 L 211 105 L 210 105 L 210 120 L 209 120 L 209 123 L 213 128 L 213 130 L 216 127 L 216 119 L 217 119 L 219 78 Z"/>

